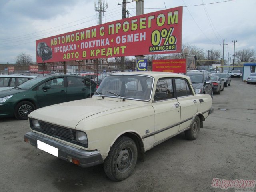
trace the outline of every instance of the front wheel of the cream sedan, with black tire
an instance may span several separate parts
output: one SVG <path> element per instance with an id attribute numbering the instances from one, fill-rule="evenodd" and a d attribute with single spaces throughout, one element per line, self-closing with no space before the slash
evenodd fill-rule
<path id="1" fill-rule="evenodd" d="M 104 160 L 104 171 L 111 180 L 122 181 L 132 174 L 137 158 L 138 150 L 134 140 L 122 136 L 110 148 Z"/>

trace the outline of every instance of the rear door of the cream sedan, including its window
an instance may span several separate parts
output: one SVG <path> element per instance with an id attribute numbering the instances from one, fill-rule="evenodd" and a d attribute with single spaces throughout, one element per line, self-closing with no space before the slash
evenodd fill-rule
<path id="1" fill-rule="evenodd" d="M 175 78 L 175 92 L 180 105 L 180 127 L 179 131 L 188 128 L 194 114 L 197 112 L 196 97 L 193 95 L 190 84 L 182 78 Z"/>

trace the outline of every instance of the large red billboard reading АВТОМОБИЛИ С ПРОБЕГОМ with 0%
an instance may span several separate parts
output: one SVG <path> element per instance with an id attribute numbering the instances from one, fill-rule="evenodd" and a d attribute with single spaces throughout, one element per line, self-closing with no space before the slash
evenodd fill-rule
<path id="1" fill-rule="evenodd" d="M 36 40 L 36 62 L 181 52 L 182 7 Z"/>

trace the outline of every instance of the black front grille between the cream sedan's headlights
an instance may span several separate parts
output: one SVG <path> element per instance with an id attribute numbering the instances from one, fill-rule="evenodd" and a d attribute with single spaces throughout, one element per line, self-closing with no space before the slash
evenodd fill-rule
<path id="1" fill-rule="evenodd" d="M 69 142 L 75 142 L 76 136 L 75 136 L 75 130 L 63 128 L 60 126 L 48 124 L 45 122 L 39 122 L 41 130 L 39 132 L 42 132 L 44 134 L 60 138 L 62 140 L 66 140 Z"/>

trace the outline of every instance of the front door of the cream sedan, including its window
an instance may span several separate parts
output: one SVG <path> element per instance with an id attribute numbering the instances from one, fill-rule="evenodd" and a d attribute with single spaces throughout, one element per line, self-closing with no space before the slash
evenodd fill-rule
<path id="1" fill-rule="evenodd" d="M 155 110 L 156 145 L 176 134 L 180 126 L 180 105 L 174 96 L 172 78 L 158 80 L 152 106 Z"/>

